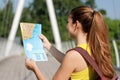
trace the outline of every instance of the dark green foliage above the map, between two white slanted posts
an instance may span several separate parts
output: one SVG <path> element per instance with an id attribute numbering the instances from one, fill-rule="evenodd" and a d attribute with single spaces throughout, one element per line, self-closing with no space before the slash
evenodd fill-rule
<path id="1" fill-rule="evenodd" d="M 23 10 L 21 22 L 41 23 L 42 33 L 54 42 L 45 0 L 34 0 Z"/>

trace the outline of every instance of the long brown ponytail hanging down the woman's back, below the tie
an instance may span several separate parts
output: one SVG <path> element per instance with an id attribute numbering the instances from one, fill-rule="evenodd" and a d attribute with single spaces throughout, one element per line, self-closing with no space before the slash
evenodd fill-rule
<path id="1" fill-rule="evenodd" d="M 94 11 L 88 43 L 103 74 L 108 78 L 112 78 L 115 71 L 111 61 L 108 29 L 102 15 L 96 11 Z"/>

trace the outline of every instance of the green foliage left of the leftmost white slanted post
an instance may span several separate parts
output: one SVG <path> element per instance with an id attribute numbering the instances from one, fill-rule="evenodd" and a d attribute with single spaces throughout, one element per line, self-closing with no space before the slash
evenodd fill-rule
<path id="1" fill-rule="evenodd" d="M 0 37 L 7 38 L 11 29 L 13 20 L 12 2 L 8 1 L 6 6 L 0 10 Z"/>

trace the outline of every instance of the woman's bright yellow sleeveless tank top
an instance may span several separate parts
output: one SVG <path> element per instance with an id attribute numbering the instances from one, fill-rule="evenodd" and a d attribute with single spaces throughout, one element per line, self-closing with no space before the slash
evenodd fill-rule
<path id="1" fill-rule="evenodd" d="M 90 48 L 87 44 L 81 44 L 78 45 L 78 47 L 81 47 L 91 55 Z M 71 80 L 93 80 L 94 79 L 94 70 L 91 66 L 88 65 L 88 67 L 80 72 L 73 72 L 71 75 Z"/>

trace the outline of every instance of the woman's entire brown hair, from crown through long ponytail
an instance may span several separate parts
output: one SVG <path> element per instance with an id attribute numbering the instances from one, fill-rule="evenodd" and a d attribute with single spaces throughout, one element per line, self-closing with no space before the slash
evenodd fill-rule
<path id="1" fill-rule="evenodd" d="M 80 6 L 71 11 L 73 23 L 78 20 L 87 33 L 87 42 L 93 57 L 103 74 L 112 78 L 115 74 L 110 54 L 108 29 L 103 16 L 87 6 Z"/>

